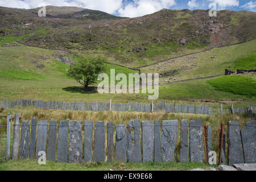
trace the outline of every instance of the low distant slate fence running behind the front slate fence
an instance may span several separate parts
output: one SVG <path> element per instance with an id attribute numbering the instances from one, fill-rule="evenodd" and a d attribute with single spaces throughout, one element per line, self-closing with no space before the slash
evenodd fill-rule
<path id="1" fill-rule="evenodd" d="M 34 106 L 40 109 L 56 109 L 56 110 L 82 110 L 82 111 L 101 111 L 110 110 L 110 102 L 63 102 L 63 101 L 42 101 L 42 100 L 3 100 L 0 107 L 14 108 L 16 106 Z M 209 114 L 212 115 L 211 106 L 194 106 L 184 104 L 166 104 L 165 102 L 152 104 L 139 104 L 138 102 L 128 102 L 126 104 L 111 104 L 111 110 L 114 111 L 159 111 L 165 110 L 168 113 L 192 113 L 192 114 Z"/>

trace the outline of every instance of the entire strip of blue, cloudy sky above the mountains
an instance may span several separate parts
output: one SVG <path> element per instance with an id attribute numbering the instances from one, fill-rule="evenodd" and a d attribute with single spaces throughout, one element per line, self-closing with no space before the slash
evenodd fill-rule
<path id="1" fill-rule="evenodd" d="M 0 0 L 0 6 L 5 7 L 32 9 L 44 5 L 84 7 L 127 17 L 151 14 L 163 8 L 256 11 L 255 0 Z"/>

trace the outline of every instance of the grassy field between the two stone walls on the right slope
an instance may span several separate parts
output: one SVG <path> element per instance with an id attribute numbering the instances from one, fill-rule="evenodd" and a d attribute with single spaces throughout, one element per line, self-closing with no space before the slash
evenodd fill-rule
<path id="1" fill-rule="evenodd" d="M 141 68 L 142 72 L 167 73 L 160 81 L 184 80 L 213 75 L 224 75 L 225 69 L 255 68 L 256 40 L 243 44 L 213 48 L 210 51 L 196 53 L 167 60 L 163 63 Z M 153 68 L 153 69 L 151 69 Z M 177 81 L 176 80 L 176 81 Z"/>

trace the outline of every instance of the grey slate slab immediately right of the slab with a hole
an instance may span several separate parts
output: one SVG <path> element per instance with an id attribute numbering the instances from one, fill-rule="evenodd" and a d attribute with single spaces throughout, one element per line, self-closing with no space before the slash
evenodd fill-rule
<path id="1" fill-rule="evenodd" d="M 142 121 L 142 160 L 153 162 L 154 130 L 152 121 Z"/>

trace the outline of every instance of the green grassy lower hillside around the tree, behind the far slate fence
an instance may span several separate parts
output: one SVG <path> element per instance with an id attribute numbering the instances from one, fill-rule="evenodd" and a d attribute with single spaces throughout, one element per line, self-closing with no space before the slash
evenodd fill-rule
<path id="1" fill-rule="evenodd" d="M 168 82 L 164 81 L 174 77 L 177 77 L 178 80 L 184 80 L 186 78 L 223 74 L 225 68 L 232 69 L 236 67 L 237 59 L 255 53 L 255 42 L 253 40 L 239 45 L 205 51 L 193 55 L 195 57 L 192 59 L 193 62 L 190 63 L 189 61 L 191 59 L 187 59 L 189 56 L 175 60 L 176 63 L 171 65 L 170 70 L 177 69 L 178 72 L 175 72 L 174 76 L 160 77 L 159 100 L 173 102 L 177 100 L 224 99 L 231 101 L 242 99 L 243 101 L 234 102 L 243 105 L 255 101 L 254 90 L 250 90 L 254 88 L 254 82 L 244 82 L 243 87 L 239 86 L 240 82 L 234 82 L 238 92 L 226 92 L 228 90 L 216 89 L 207 82 L 207 80 L 214 78 L 177 82 L 174 84 L 168 84 Z M 80 57 L 69 53 L 64 54 L 74 61 L 80 59 Z M 10 100 L 18 100 L 20 98 L 31 98 L 32 100 L 109 101 L 112 98 L 115 101 L 122 102 L 128 100 L 150 102 L 147 100 L 148 94 L 98 94 L 96 92 L 83 92 L 75 80 L 65 75 L 69 65 L 55 60 L 56 56 L 58 57 L 59 55 L 61 55 L 59 51 L 28 47 L 16 43 L 11 44 L 9 47 L 0 47 L 0 59 L 2 61 L 0 65 L 0 81 L 5 83 L 1 86 L 0 99 L 9 98 Z M 212 56 L 214 56 L 213 60 L 211 59 Z M 85 57 L 90 58 L 88 55 Z M 34 63 L 33 61 L 36 61 L 36 64 L 39 65 L 43 64 L 44 69 L 37 68 L 35 64 L 32 64 Z M 184 69 L 186 64 L 194 64 L 194 62 L 197 63 L 195 67 L 188 70 Z M 106 73 L 108 75 L 110 75 L 110 68 L 115 68 L 116 74 L 136 72 L 131 69 L 118 67 L 117 65 L 106 65 Z M 163 65 L 163 67 L 161 68 L 160 65 Z M 155 68 L 156 71 L 143 68 L 142 73 L 163 73 L 168 71 L 168 69 L 164 69 L 166 65 L 168 64 L 163 63 L 157 65 Z M 158 70 L 157 68 L 161 69 Z M 253 76 L 251 79 L 255 80 L 255 77 Z M 249 89 L 249 93 L 241 94 L 240 91 L 242 89 Z M 249 98 L 248 96 L 252 97 Z"/>

